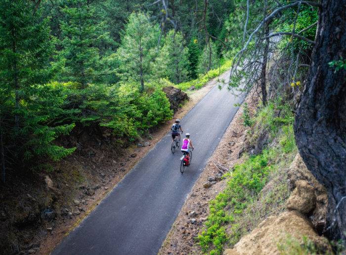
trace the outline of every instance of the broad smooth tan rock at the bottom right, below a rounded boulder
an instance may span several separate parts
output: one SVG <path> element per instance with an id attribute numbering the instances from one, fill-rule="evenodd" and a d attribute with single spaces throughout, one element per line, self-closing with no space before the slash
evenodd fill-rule
<path id="1" fill-rule="evenodd" d="M 308 219 L 298 211 L 289 211 L 263 220 L 250 234 L 242 237 L 233 249 L 226 249 L 223 255 L 276 255 L 280 254 L 278 244 L 287 242 L 288 237 L 302 242 L 303 236 L 319 250 L 331 251 L 328 240 L 316 234 Z"/>

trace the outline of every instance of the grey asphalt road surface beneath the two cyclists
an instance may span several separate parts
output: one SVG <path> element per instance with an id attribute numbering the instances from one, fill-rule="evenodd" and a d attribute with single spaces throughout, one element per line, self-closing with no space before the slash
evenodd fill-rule
<path id="1" fill-rule="evenodd" d="M 221 78 L 227 80 L 229 72 Z M 53 255 L 155 255 L 242 97 L 217 85 L 181 120 L 195 147 L 180 173 L 168 133 L 52 252 Z"/>

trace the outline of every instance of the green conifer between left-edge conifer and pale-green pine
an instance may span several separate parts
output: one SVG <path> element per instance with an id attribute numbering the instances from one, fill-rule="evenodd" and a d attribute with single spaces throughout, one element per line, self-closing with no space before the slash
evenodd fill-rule
<path id="1" fill-rule="evenodd" d="M 60 24 L 63 49 L 58 55 L 58 64 L 61 65 L 59 78 L 78 82 L 86 88 L 87 83 L 102 80 L 106 73 L 97 47 L 102 39 L 108 37 L 104 31 L 105 24 L 97 21 L 95 7 L 87 0 L 70 0 L 61 11 L 66 17 Z"/>

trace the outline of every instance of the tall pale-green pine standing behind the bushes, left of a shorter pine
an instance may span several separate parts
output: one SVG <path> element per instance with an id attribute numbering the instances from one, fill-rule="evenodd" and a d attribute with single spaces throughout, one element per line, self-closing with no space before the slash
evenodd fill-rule
<path id="1" fill-rule="evenodd" d="M 132 13 L 117 51 L 122 78 L 140 82 L 141 91 L 144 91 L 144 82 L 154 73 L 152 63 L 157 54 L 159 33 L 158 25 L 153 26 L 147 15 Z"/>

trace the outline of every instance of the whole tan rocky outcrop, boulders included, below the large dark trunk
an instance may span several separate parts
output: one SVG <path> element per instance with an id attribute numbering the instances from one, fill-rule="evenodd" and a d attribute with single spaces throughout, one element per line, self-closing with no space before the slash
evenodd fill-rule
<path id="1" fill-rule="evenodd" d="M 325 226 L 326 189 L 307 170 L 299 154 L 289 168 L 288 178 L 293 192 L 286 202 L 287 210 L 264 219 L 224 255 L 294 254 L 297 251 L 292 242 L 306 249 L 313 244 L 317 254 L 331 252 L 328 240 L 319 236 Z"/>

